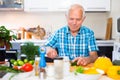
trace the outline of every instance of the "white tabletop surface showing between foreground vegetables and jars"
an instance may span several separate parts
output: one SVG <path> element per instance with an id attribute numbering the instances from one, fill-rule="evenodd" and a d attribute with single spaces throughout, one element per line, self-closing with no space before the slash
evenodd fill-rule
<path id="1" fill-rule="evenodd" d="M 53 63 L 48 63 L 48 65 L 51 65 Z M 90 67 L 92 66 L 92 64 L 89 64 L 87 67 Z M 7 73 L 2 79 L 0 80 L 9 80 L 10 76 L 13 75 L 12 73 Z M 30 73 L 30 75 L 28 75 L 27 77 L 25 77 L 24 75 L 22 74 L 18 74 L 16 75 L 15 77 L 13 77 L 11 80 L 41 80 L 38 76 L 35 76 L 35 72 L 34 70 Z M 54 79 L 53 76 L 49 76 L 47 77 L 45 80 L 56 80 Z M 70 74 L 68 76 L 65 76 L 64 79 L 61 79 L 61 80 L 79 80 L 79 79 L 76 79 L 76 76 L 74 75 L 73 72 L 70 72 Z M 107 77 L 106 75 L 102 75 L 101 78 L 99 80 L 113 80 L 109 77 Z"/>

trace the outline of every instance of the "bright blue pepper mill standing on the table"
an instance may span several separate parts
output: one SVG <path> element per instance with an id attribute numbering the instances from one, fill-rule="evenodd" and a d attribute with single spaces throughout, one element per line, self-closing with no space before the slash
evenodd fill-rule
<path id="1" fill-rule="evenodd" d="M 45 54 L 46 54 L 46 48 L 44 46 L 39 48 L 39 55 L 40 55 L 40 63 L 39 63 L 39 77 L 41 80 L 44 80 L 46 78 L 46 60 L 45 60 Z"/>

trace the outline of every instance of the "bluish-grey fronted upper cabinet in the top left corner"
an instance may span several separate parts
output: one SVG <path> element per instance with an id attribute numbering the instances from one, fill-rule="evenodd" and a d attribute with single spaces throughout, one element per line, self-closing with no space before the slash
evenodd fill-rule
<path id="1" fill-rule="evenodd" d="M 0 0 L 0 10 L 24 10 L 24 0 Z"/>

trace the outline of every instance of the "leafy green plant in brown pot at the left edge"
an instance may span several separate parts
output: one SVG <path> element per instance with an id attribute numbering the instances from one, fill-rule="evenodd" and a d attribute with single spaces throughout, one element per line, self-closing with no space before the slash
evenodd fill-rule
<path id="1" fill-rule="evenodd" d="M 5 26 L 0 26 L 0 48 L 9 50 L 12 47 L 11 40 L 17 39 L 16 35 L 12 34 L 13 31 L 8 30 Z"/>

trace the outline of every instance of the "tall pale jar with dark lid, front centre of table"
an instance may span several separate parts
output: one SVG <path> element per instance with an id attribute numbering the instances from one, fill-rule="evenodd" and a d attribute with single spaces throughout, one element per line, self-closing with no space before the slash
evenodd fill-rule
<path id="1" fill-rule="evenodd" d="M 54 58 L 54 74 L 56 79 L 63 78 L 63 58 L 62 57 Z"/>

